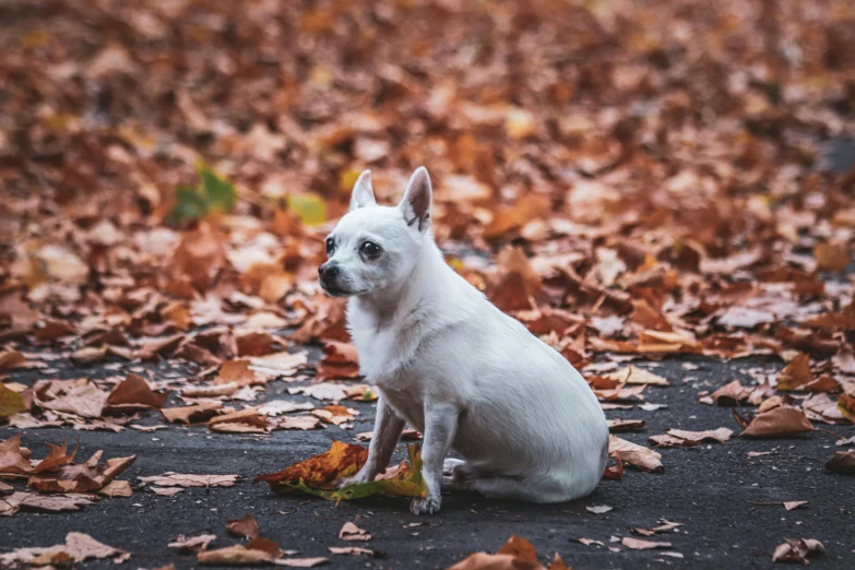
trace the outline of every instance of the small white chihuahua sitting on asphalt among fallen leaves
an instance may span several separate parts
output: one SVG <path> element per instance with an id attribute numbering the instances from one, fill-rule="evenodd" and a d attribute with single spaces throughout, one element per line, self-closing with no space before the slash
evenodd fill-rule
<path id="1" fill-rule="evenodd" d="M 596 396 L 446 264 L 429 230 L 431 200 L 420 167 L 396 207 L 380 206 L 366 170 L 326 238 L 321 286 L 349 297 L 360 370 L 380 395 L 368 460 L 342 485 L 373 480 L 408 421 L 424 434 L 427 497 L 413 500 L 415 514 L 438 512 L 441 488 L 532 502 L 589 495 L 608 453 Z M 450 450 L 464 460 L 446 459 Z"/>

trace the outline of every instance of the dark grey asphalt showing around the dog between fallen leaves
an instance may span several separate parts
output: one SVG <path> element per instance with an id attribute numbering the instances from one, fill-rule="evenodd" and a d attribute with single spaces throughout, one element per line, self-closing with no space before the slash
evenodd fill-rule
<path id="1" fill-rule="evenodd" d="M 685 370 L 681 363 L 700 368 Z M 779 369 L 774 359 L 741 359 L 719 363 L 689 357 L 652 364 L 674 385 L 653 388 L 648 400 L 668 407 L 608 412 L 609 418 L 644 419 L 643 432 L 621 437 L 645 443 L 646 437 L 668 428 L 690 430 L 728 427 L 737 430 L 731 409 L 697 402 L 701 390 L 720 387 L 740 370 L 752 367 Z M 87 375 L 97 378 L 106 370 L 68 369 L 63 378 Z M 109 373 L 112 373 L 111 371 Z M 22 380 L 26 372 L 13 379 Z M 264 397 L 282 395 L 287 387 L 274 382 Z M 298 396 L 289 396 L 299 400 Z M 188 489 L 174 498 L 139 491 L 128 499 L 105 499 L 82 512 L 38 514 L 22 512 L 0 519 L 3 549 L 61 544 L 68 532 L 85 532 L 95 538 L 132 553 L 129 565 L 156 568 L 175 563 L 198 566 L 193 556 L 167 548 L 179 534 L 202 531 L 218 536 L 219 546 L 237 544 L 225 532 L 229 520 L 253 514 L 262 534 L 280 542 L 283 549 L 302 556 L 328 556 L 328 546 L 345 546 L 337 538 L 347 522 L 371 533 L 365 546 L 384 557 L 366 559 L 330 557 L 333 568 L 446 568 L 476 550 L 495 551 L 512 534 L 532 541 L 538 553 L 559 553 L 574 568 L 756 568 L 771 565 L 771 554 L 784 537 L 814 537 L 827 549 L 814 562 L 818 568 L 846 568 L 854 556 L 855 488 L 845 476 L 829 474 L 823 464 L 833 454 L 834 438 L 821 431 L 784 440 L 734 438 L 724 444 L 691 449 L 662 449 L 665 473 L 650 474 L 628 468 L 621 482 L 604 480 L 591 497 L 567 504 L 531 506 L 486 500 L 475 495 L 443 497 L 442 512 L 415 516 L 406 499 L 375 498 L 339 507 L 306 496 L 274 496 L 266 485 L 251 484 L 261 473 L 277 471 L 311 454 L 324 451 L 334 438 L 353 441 L 371 428 L 372 404 L 354 404 L 361 412 L 353 430 L 330 428 L 314 431 L 276 431 L 269 437 L 215 435 L 206 427 L 177 428 L 156 432 L 128 429 L 121 434 L 66 429 L 26 430 L 23 443 L 38 453 L 41 442 L 61 443 L 80 439 L 81 454 L 104 449 L 106 456 L 138 455 L 136 463 L 121 478 L 136 485 L 139 476 L 178 473 L 239 474 L 231 488 Z M 150 418 L 143 424 L 161 424 Z M 855 428 L 829 427 L 845 437 Z M 738 430 L 737 430 L 738 431 Z M 0 429 L 4 439 L 13 431 Z M 841 449 L 841 448 L 836 448 Z M 748 451 L 772 451 L 750 459 Z M 403 453 L 403 444 L 399 454 Z M 794 511 L 781 506 L 752 506 L 748 501 L 809 501 Z M 585 507 L 607 504 L 614 510 L 593 514 Z M 682 523 L 678 533 L 656 541 L 673 543 L 685 558 L 663 557 L 655 550 L 608 550 L 611 536 L 631 536 L 631 527 L 656 526 L 660 519 Z M 408 526 L 420 523 L 418 526 Z M 574 538 L 593 538 L 605 547 L 584 546 Z M 87 566 L 111 566 L 87 563 Z"/>

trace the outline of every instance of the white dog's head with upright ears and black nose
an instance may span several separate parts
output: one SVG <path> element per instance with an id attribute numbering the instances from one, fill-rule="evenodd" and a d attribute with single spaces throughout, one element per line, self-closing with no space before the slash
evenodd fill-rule
<path id="1" fill-rule="evenodd" d="M 349 212 L 326 237 L 329 259 L 318 271 L 323 290 L 349 297 L 406 280 L 428 235 L 431 195 L 424 166 L 413 173 L 397 206 L 378 205 L 370 170 L 359 175 Z"/>

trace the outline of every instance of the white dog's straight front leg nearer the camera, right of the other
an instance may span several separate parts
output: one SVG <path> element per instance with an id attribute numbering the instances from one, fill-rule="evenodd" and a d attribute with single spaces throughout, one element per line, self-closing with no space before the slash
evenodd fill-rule
<path id="1" fill-rule="evenodd" d="M 442 462 L 451 448 L 458 427 L 460 411 L 451 404 L 425 403 L 425 438 L 421 446 L 421 477 L 427 486 L 427 497 L 413 499 L 409 510 L 414 514 L 439 512 L 442 501 Z"/>

